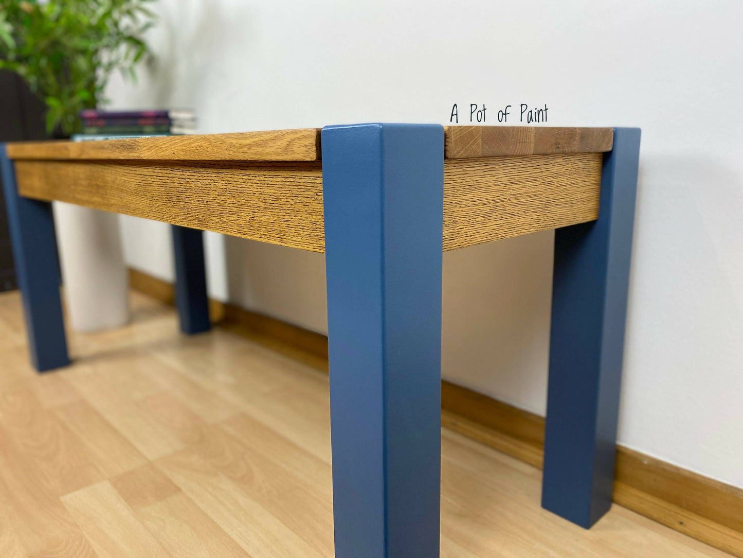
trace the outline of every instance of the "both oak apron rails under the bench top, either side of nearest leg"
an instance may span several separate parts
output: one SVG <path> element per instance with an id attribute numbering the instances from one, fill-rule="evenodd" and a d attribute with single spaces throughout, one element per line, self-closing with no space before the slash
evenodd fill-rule
<path id="1" fill-rule="evenodd" d="M 444 161 L 444 250 L 597 218 L 601 154 Z M 325 250 L 319 161 L 16 161 L 19 192 Z"/>

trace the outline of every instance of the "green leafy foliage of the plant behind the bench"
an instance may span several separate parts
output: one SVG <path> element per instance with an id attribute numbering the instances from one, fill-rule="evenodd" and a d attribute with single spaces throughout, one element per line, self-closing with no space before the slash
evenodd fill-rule
<path id="1" fill-rule="evenodd" d="M 134 79 L 149 54 L 154 0 L 3 0 L 0 68 L 19 74 L 47 107 L 49 133 L 69 137 L 78 114 L 106 103 L 111 73 Z"/>

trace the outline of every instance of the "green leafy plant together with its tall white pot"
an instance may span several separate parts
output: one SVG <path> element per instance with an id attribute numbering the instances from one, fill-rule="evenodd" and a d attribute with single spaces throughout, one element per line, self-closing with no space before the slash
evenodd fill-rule
<path id="1" fill-rule="evenodd" d="M 111 73 L 134 78 L 149 55 L 143 33 L 153 0 L 2 0 L 0 68 L 14 71 L 45 103 L 56 138 L 80 131 L 82 109 L 106 103 Z M 90 331 L 129 319 L 129 280 L 115 214 L 54 203 L 72 327 Z"/>

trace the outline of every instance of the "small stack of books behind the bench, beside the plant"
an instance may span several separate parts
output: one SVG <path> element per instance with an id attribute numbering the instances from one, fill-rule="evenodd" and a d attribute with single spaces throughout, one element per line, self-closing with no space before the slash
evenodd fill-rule
<path id="1" fill-rule="evenodd" d="M 196 131 L 191 109 L 80 112 L 82 134 L 74 139 L 140 138 L 147 135 L 183 135 Z"/>

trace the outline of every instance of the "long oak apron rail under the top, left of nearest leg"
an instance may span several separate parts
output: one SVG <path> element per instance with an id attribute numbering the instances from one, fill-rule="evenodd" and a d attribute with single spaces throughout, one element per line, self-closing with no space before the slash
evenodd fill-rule
<path id="1" fill-rule="evenodd" d="M 16 161 L 19 192 L 322 251 L 322 170 L 305 163 Z"/>

